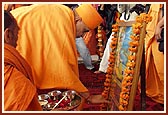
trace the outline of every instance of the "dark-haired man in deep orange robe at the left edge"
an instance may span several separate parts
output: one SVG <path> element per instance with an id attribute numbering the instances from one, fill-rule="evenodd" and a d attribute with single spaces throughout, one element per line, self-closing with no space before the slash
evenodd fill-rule
<path id="1" fill-rule="evenodd" d="M 18 30 L 16 20 L 4 11 L 4 110 L 42 110 L 31 67 L 16 50 Z"/>

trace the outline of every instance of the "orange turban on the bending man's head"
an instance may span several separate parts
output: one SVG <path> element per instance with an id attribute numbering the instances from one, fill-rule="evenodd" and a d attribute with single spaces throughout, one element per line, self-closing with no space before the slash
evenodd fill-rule
<path id="1" fill-rule="evenodd" d="M 94 29 L 103 22 L 102 17 L 91 4 L 80 5 L 76 8 L 76 12 L 89 29 Z"/>

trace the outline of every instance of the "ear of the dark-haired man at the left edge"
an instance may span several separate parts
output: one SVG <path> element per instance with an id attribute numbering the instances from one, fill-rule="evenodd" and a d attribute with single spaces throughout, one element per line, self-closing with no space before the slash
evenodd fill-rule
<path id="1" fill-rule="evenodd" d="M 12 39 L 12 31 L 9 28 L 7 28 L 4 31 L 4 42 L 9 43 L 11 39 Z"/>

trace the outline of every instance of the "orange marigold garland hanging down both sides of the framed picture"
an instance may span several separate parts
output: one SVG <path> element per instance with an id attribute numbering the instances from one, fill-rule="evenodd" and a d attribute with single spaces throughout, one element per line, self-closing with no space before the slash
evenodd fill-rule
<path id="1" fill-rule="evenodd" d="M 140 16 L 136 18 L 136 23 L 132 24 L 132 35 L 130 35 L 130 38 L 132 41 L 129 43 L 129 51 L 130 55 L 128 56 L 128 62 L 126 64 L 126 69 L 124 71 L 124 76 L 123 80 L 121 83 L 121 92 L 120 92 L 120 97 L 119 97 L 119 106 L 118 109 L 120 111 L 126 111 L 128 107 L 128 102 L 129 102 L 129 96 L 130 96 L 130 90 L 132 86 L 132 80 L 133 80 L 133 75 L 134 75 L 134 68 L 136 66 L 136 52 L 138 50 L 139 46 L 139 39 L 140 39 L 140 30 L 142 28 L 142 23 L 148 23 L 151 21 L 151 17 L 148 14 L 142 13 Z M 114 34 L 112 35 L 113 38 L 112 42 L 110 44 L 111 47 L 111 52 L 110 52 L 110 57 L 108 59 L 109 64 L 106 72 L 106 79 L 104 82 L 104 90 L 102 92 L 102 96 L 105 99 L 109 99 L 109 96 L 115 96 L 114 94 L 114 89 L 116 87 L 116 80 L 113 79 L 113 69 L 115 66 L 115 51 L 117 47 L 117 41 L 118 41 L 118 22 L 122 22 L 123 20 L 117 19 L 117 23 L 112 25 L 112 32 Z M 109 95 L 110 93 L 110 95 Z M 101 110 L 107 110 L 108 109 L 108 104 L 103 103 L 100 105 Z"/>

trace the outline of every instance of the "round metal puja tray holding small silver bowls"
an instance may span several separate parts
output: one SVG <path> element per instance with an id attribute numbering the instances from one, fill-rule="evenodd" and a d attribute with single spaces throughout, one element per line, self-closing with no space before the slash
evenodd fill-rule
<path id="1" fill-rule="evenodd" d="M 81 103 L 81 97 L 73 90 L 54 90 L 38 95 L 38 100 L 43 111 L 70 111 Z"/>

